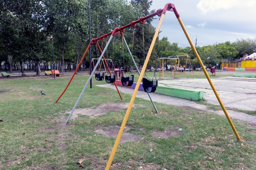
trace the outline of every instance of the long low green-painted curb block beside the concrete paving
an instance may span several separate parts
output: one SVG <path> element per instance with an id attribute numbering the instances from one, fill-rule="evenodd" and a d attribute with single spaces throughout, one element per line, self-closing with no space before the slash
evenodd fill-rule
<path id="1" fill-rule="evenodd" d="M 192 91 L 187 89 L 177 89 L 172 87 L 163 87 L 157 86 L 155 93 L 164 94 L 167 96 L 173 96 L 177 98 L 185 98 L 189 100 L 203 100 L 204 92 L 203 91 Z"/>

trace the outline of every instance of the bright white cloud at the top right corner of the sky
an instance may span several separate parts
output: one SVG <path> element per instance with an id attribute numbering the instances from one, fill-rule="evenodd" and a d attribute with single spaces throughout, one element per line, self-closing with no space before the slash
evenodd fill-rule
<path id="1" fill-rule="evenodd" d="M 233 7 L 253 7 L 255 0 L 200 0 L 197 4 L 198 9 L 203 13 L 218 11 L 219 9 L 231 9 Z"/>

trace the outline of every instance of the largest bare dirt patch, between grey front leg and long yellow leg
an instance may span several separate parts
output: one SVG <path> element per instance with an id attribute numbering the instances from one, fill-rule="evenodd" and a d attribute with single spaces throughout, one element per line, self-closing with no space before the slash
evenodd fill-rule
<path id="1" fill-rule="evenodd" d="M 86 115 L 90 118 L 97 118 L 98 116 L 107 114 L 112 111 L 119 111 L 128 108 L 129 103 L 103 103 L 97 107 L 93 108 L 84 108 L 84 109 L 75 109 L 72 113 L 71 119 L 79 118 L 79 116 Z M 70 111 L 66 111 L 65 113 L 70 113 Z"/>

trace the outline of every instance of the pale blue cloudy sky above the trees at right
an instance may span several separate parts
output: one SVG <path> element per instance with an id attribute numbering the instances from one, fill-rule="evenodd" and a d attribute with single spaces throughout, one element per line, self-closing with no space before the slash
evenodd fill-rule
<path id="1" fill-rule="evenodd" d="M 256 0 L 153 0 L 150 10 L 163 9 L 167 3 L 175 5 L 194 46 L 256 37 Z M 156 28 L 158 23 L 157 17 L 151 24 Z M 173 12 L 166 12 L 160 31 L 160 39 L 190 46 Z"/>

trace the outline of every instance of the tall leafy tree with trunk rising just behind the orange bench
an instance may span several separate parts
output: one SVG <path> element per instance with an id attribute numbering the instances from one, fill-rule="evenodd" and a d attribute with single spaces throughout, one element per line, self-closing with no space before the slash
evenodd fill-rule
<path id="1" fill-rule="evenodd" d="M 87 4 L 88 3 L 85 0 L 56 0 L 54 3 L 48 4 L 48 10 L 54 13 L 54 24 L 51 32 L 58 41 L 58 49 L 60 52 L 59 59 L 61 60 L 60 72 L 63 72 L 64 69 L 65 50 L 68 49 L 75 40 L 77 40 L 76 49 L 78 50 L 78 48 L 80 48 L 78 50 L 78 55 L 81 53 L 79 52 L 82 48 L 80 43 L 83 43 L 81 42 L 81 37 L 79 40 L 73 38 L 72 41 L 72 35 L 76 34 L 76 38 L 78 38 L 78 35 L 83 36 L 85 35 L 85 32 L 88 33 L 88 29 L 85 30 L 85 24 L 88 23 L 86 22 L 88 21 L 88 15 L 85 13 L 85 11 L 87 11 Z M 77 44 L 78 41 L 80 41 L 80 45 Z"/>

